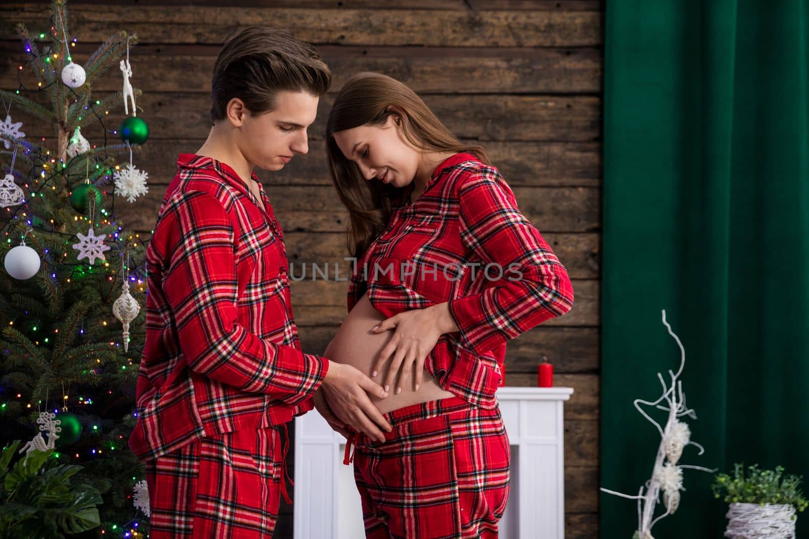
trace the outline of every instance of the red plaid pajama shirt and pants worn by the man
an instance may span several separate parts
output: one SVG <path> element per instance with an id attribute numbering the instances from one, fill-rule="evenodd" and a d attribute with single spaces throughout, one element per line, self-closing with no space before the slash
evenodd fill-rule
<path id="1" fill-rule="evenodd" d="M 129 447 L 146 462 L 151 537 L 184 537 L 192 524 L 197 537 L 195 522 L 205 531 L 217 516 L 216 537 L 265 537 L 278 487 L 286 494 L 273 427 L 311 410 L 328 361 L 301 352 L 283 232 L 264 189 L 266 211 L 230 166 L 193 154 L 177 165 L 146 249 Z"/>

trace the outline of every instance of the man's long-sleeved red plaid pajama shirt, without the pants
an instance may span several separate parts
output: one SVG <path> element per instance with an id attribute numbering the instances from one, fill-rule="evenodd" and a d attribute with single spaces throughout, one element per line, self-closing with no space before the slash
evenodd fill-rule
<path id="1" fill-rule="evenodd" d="M 146 347 L 129 439 L 141 460 L 286 423 L 311 410 L 328 370 L 301 352 L 283 233 L 264 189 L 266 211 L 230 166 L 193 154 L 177 165 L 146 250 Z"/>

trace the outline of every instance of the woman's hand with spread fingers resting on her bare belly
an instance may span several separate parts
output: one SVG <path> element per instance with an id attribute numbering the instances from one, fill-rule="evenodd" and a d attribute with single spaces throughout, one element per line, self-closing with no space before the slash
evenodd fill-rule
<path id="1" fill-rule="evenodd" d="M 393 361 L 385 374 L 383 387 L 386 391 L 393 387 L 396 380 L 396 391 L 399 394 L 411 380 L 415 382 L 415 390 L 421 386 L 424 376 L 424 362 L 427 355 L 445 333 L 459 331 L 452 319 L 448 303 L 440 303 L 427 307 L 396 314 L 383 320 L 374 328 L 374 333 L 396 330 L 388 344 L 379 352 L 374 362 L 371 377 L 376 377 L 388 358 Z"/>

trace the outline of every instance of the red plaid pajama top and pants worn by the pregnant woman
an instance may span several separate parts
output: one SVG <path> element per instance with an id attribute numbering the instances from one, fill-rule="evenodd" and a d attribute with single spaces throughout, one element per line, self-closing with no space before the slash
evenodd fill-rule
<path id="1" fill-rule="evenodd" d="M 460 331 L 442 335 L 425 368 L 456 397 L 391 412 L 387 441 L 349 438 L 346 460 L 356 442 L 368 537 L 497 537 L 509 479 L 495 397 L 506 341 L 567 313 L 573 288 L 493 166 L 455 154 L 404 204 L 412 188 L 358 259 L 348 307 L 365 293 L 386 317 L 448 301 Z"/>

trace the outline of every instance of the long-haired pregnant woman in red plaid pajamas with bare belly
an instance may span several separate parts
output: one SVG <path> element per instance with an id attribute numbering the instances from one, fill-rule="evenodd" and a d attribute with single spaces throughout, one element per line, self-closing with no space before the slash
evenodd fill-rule
<path id="1" fill-rule="evenodd" d="M 374 402 L 392 432 L 339 419 L 329 394 L 316 396 L 349 436 L 347 456 L 355 445 L 366 536 L 497 537 L 509 490 L 495 396 L 506 341 L 570 310 L 567 272 L 483 149 L 395 79 L 347 82 L 327 141 L 357 265 L 324 356 L 390 389 Z"/>

